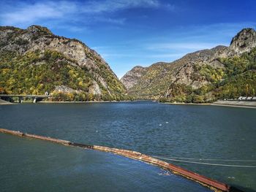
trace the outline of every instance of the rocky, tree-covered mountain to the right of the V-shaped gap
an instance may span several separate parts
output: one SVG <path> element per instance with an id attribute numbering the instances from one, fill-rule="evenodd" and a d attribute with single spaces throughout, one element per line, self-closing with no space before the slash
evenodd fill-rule
<path id="1" fill-rule="evenodd" d="M 140 70 L 135 67 L 121 82 L 129 95 L 139 99 L 206 102 L 253 95 L 256 90 L 254 47 L 255 30 L 244 28 L 233 37 L 229 47 L 220 45 L 199 50 L 171 63 L 160 62 Z"/>

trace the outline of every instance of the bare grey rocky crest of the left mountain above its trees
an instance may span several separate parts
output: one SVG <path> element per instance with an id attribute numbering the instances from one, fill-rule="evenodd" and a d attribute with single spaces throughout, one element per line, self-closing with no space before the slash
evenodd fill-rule
<path id="1" fill-rule="evenodd" d="M 54 50 L 62 53 L 67 58 L 75 60 L 79 66 L 86 66 L 89 69 L 99 69 L 99 66 L 96 64 L 96 61 L 99 61 L 110 70 L 104 59 L 94 50 L 83 44 L 83 42 L 77 39 L 68 39 L 53 35 L 48 28 L 30 26 L 26 30 L 22 30 L 12 27 L 1 27 L 0 31 L 1 45 L 6 44 L 5 46 L 1 46 L 1 50 L 18 51 L 20 54 L 26 54 L 36 50 Z"/>

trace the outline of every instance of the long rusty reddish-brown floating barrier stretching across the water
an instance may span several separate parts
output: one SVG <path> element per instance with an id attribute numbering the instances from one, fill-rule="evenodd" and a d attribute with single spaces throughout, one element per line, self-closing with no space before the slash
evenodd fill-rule
<path id="1" fill-rule="evenodd" d="M 4 128 L 0 128 L 0 132 L 5 133 L 5 134 L 16 135 L 19 137 L 42 139 L 42 140 L 49 141 L 49 142 L 59 143 L 61 145 L 69 145 L 69 146 L 74 146 L 74 147 L 82 147 L 82 148 L 86 148 L 86 149 L 100 150 L 100 151 L 104 151 L 104 152 L 108 152 L 108 153 L 115 153 L 117 155 L 122 155 L 127 158 L 133 158 L 133 159 L 137 159 L 140 161 L 145 161 L 147 163 L 157 165 L 163 169 L 170 170 L 174 174 L 179 174 L 179 175 L 186 177 L 190 180 L 194 180 L 197 183 L 200 183 L 201 185 L 211 188 L 213 191 L 229 191 L 229 192 L 239 192 L 240 191 L 237 188 L 233 188 L 229 185 L 226 185 L 225 183 L 220 183 L 216 180 L 211 180 L 210 178 L 205 177 L 203 175 L 197 174 L 195 172 L 190 172 L 187 169 L 183 169 L 179 166 L 169 164 L 165 161 L 162 161 L 157 158 L 153 158 L 151 156 L 148 156 L 148 155 L 136 152 L 136 151 L 132 151 L 132 150 L 121 150 L 121 149 L 117 149 L 117 148 L 103 147 L 103 146 L 99 146 L 99 145 L 84 145 L 84 144 L 80 144 L 80 143 L 69 142 L 66 140 L 54 139 L 51 137 L 43 137 L 43 136 L 39 136 L 39 135 L 35 135 L 35 134 L 26 134 L 26 133 L 22 133 L 20 131 L 12 131 L 12 130 L 8 130 L 8 129 L 4 129 Z"/>

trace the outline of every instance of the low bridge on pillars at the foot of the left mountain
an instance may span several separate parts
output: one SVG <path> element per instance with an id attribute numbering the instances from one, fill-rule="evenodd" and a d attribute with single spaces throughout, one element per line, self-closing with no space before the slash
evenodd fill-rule
<path id="1" fill-rule="evenodd" d="M 5 101 L 12 101 L 12 98 L 18 98 L 19 103 L 22 103 L 24 98 L 32 99 L 33 103 L 37 101 L 41 101 L 42 99 L 49 98 L 50 95 L 8 95 L 8 94 L 0 94 L 0 99 Z"/>

